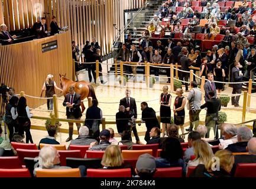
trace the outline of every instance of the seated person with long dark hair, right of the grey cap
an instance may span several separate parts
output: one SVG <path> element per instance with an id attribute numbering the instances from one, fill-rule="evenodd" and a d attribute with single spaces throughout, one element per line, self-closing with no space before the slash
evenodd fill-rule
<path id="1" fill-rule="evenodd" d="M 182 167 L 185 171 L 182 145 L 177 138 L 164 139 L 160 157 L 155 159 L 155 164 L 157 168 Z"/>

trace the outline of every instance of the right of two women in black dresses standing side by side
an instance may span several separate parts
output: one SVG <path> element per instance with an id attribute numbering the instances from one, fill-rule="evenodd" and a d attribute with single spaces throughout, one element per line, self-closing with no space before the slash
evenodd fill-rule
<path id="1" fill-rule="evenodd" d="M 182 95 L 183 90 L 177 89 L 174 104 L 173 104 L 173 112 L 174 112 L 174 124 L 180 126 L 182 133 L 184 134 L 184 119 L 185 119 L 185 105 L 186 98 Z M 182 138 L 185 138 L 185 135 L 182 135 Z"/>

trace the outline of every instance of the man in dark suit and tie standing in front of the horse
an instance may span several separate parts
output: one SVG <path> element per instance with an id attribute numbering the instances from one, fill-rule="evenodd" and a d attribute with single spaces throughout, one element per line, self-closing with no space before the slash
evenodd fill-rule
<path id="1" fill-rule="evenodd" d="M 69 93 L 66 94 L 63 106 L 66 106 L 66 115 L 67 119 L 76 119 L 80 120 L 82 117 L 82 112 L 80 109 L 80 94 L 74 92 L 74 86 L 69 87 Z M 77 131 L 81 126 L 80 123 L 76 123 Z M 66 142 L 72 140 L 73 135 L 73 123 L 69 122 L 69 138 L 67 138 Z"/>

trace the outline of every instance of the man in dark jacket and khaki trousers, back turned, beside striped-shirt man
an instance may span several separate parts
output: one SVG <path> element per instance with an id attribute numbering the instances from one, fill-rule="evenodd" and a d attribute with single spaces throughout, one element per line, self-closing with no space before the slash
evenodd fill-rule
<path id="1" fill-rule="evenodd" d="M 216 121 L 218 120 L 218 112 L 221 110 L 221 100 L 216 99 L 215 97 L 216 93 L 212 90 L 208 93 L 209 100 L 200 106 L 201 109 L 204 109 L 207 107 L 207 112 L 205 116 L 205 126 L 208 129 L 205 138 L 209 138 L 210 136 L 210 128 L 213 127 L 214 136 L 216 139 L 218 139 L 218 132 L 216 131 Z"/>

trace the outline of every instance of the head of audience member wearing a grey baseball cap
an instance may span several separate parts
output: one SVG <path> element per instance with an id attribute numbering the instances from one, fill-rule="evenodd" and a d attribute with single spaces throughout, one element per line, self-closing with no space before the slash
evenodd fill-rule
<path id="1" fill-rule="evenodd" d="M 136 176 L 141 178 L 151 178 L 155 174 L 155 158 L 150 154 L 142 154 L 136 163 Z"/>

